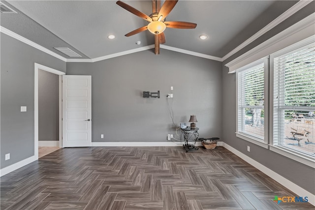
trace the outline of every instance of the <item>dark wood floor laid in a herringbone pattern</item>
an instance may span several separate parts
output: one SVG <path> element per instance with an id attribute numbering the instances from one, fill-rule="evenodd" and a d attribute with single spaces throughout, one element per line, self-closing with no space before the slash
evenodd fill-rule
<path id="1" fill-rule="evenodd" d="M 314 209 L 225 148 L 63 148 L 1 177 L 1 210 Z"/>

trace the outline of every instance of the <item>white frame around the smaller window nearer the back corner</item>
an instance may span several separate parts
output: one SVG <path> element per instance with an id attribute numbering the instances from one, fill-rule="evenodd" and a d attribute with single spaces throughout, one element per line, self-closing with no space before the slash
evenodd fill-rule
<path id="1" fill-rule="evenodd" d="M 238 76 L 239 76 L 239 73 L 262 63 L 264 64 L 264 106 L 263 106 L 264 107 L 264 138 L 263 140 L 256 138 L 254 136 L 251 136 L 249 134 L 239 132 L 240 129 L 239 129 L 239 124 L 238 124 L 238 113 L 239 113 Z M 269 148 L 269 144 L 268 144 L 269 143 L 269 56 L 256 60 L 252 62 L 251 64 L 248 64 L 236 70 L 236 132 L 235 134 L 236 134 L 236 137 L 238 138 L 247 140 L 249 142 L 252 142 L 266 149 Z"/>

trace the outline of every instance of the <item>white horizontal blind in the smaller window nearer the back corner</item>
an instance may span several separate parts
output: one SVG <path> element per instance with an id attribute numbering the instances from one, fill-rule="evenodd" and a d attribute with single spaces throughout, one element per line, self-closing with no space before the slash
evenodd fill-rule
<path id="1" fill-rule="evenodd" d="M 264 63 L 237 73 L 238 133 L 264 140 Z"/>

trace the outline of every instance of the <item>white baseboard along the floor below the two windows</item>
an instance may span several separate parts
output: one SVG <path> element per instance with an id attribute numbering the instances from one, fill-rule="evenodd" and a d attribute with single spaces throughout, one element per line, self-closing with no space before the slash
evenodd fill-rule
<path id="1" fill-rule="evenodd" d="M 280 184 L 284 185 L 284 187 L 288 188 L 295 194 L 301 196 L 301 197 L 308 197 L 309 203 L 315 206 L 315 195 L 312 193 L 308 192 L 307 190 L 303 189 L 302 187 L 298 186 L 297 184 L 293 183 L 292 181 L 284 178 L 282 175 L 277 174 L 276 172 L 268 169 L 264 165 L 258 163 L 257 161 L 253 160 L 249 156 L 243 154 L 242 152 L 238 151 L 237 149 L 233 148 L 232 146 L 226 144 L 223 142 L 223 146 L 228 149 L 229 151 L 233 152 L 249 164 L 251 164 L 253 167 L 257 168 L 260 170 L 262 173 L 270 176 L 272 179 L 276 180 Z"/>

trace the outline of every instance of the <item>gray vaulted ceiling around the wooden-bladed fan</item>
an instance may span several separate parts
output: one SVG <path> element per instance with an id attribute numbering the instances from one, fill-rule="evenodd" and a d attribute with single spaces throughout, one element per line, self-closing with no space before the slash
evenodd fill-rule
<path id="1" fill-rule="evenodd" d="M 152 1 L 123 0 L 150 15 Z M 0 25 L 66 59 L 54 47 L 68 47 L 82 57 L 96 59 L 122 52 L 152 48 L 149 31 L 125 34 L 148 24 L 116 4 L 115 0 L 7 0 L 17 13 L 1 13 Z M 166 28 L 161 47 L 220 60 L 274 19 L 295 0 L 179 0 L 167 21 L 196 23 L 195 29 Z M 163 3 L 163 1 L 162 1 Z M 115 35 L 109 39 L 108 35 Z M 207 35 L 202 40 L 200 35 Z M 137 45 L 136 42 L 141 41 Z M 153 50 L 152 50 L 153 56 Z"/>

